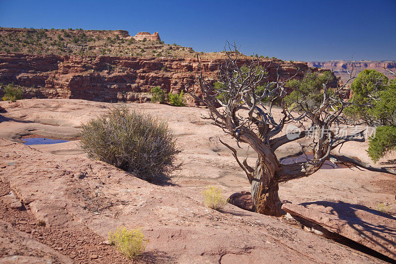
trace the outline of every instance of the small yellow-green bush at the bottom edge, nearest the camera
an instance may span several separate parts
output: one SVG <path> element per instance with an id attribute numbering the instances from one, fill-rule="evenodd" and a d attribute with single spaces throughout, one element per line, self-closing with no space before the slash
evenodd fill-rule
<path id="1" fill-rule="evenodd" d="M 108 240 L 128 259 L 135 259 L 145 250 L 148 240 L 140 228 L 128 230 L 125 226 L 108 233 Z"/>

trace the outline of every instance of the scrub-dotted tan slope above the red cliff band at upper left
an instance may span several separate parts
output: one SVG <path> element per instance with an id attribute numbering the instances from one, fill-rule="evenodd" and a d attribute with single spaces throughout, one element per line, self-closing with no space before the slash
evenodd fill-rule
<path id="1" fill-rule="evenodd" d="M 194 57 L 192 48 L 135 40 L 122 30 L 17 29 L 0 27 L 0 53 Z"/>

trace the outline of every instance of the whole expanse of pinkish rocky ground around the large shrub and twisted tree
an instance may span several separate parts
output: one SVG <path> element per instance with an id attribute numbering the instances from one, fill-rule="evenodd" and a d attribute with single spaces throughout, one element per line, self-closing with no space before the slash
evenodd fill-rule
<path id="1" fill-rule="evenodd" d="M 2 263 L 127 262 L 104 243 L 109 231 L 123 225 L 141 226 L 149 239 L 138 261 L 142 263 L 382 262 L 302 230 L 287 217 L 260 215 L 230 204 L 221 212 L 205 208 L 200 192 L 207 185 L 223 187 L 225 196 L 250 190 L 246 175 L 218 138 L 235 144 L 233 140 L 200 118 L 206 109 L 128 104 L 168 120 L 182 150 L 178 156 L 182 170 L 169 184 L 153 185 L 87 158 L 78 141 L 20 143 L 30 134 L 76 138 L 81 123 L 111 104 L 37 99 L 0 106 L 7 110 L 0 117 Z M 278 158 L 296 153 L 298 143 L 277 150 Z M 254 163 L 254 154 L 243 147 L 239 155 L 250 154 L 248 162 Z M 366 149 L 367 143 L 350 143 L 341 152 L 370 162 Z M 339 168 L 284 183 L 279 195 L 294 205 L 342 201 L 351 208 L 376 210 L 385 203 L 388 213 L 395 215 L 395 189 L 395 176 Z"/>

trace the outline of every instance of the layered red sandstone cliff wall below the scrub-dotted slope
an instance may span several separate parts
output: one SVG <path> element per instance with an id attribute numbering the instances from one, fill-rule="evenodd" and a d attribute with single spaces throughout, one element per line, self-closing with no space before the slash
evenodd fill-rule
<path id="1" fill-rule="evenodd" d="M 215 78 L 221 59 L 202 59 L 208 78 Z M 241 65 L 244 60 L 240 61 Z M 268 64 L 269 61 L 262 61 Z M 269 81 L 301 79 L 309 69 L 306 62 L 271 61 Z M 313 69 L 317 70 L 317 69 Z M 180 93 L 193 84 L 198 61 L 193 58 L 67 56 L 0 53 L 0 82 L 27 87 L 25 98 L 67 98 L 100 102 L 146 102 L 150 90 L 159 86 Z M 198 87 L 194 88 L 199 94 Z M 187 96 L 189 104 L 197 104 Z"/>

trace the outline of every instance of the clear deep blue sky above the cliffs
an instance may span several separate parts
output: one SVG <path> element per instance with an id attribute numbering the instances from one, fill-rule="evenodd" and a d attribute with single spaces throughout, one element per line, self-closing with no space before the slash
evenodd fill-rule
<path id="1" fill-rule="evenodd" d="M 396 0 L 0 0 L 1 27 L 159 32 L 165 43 L 284 60 L 396 60 Z"/>

